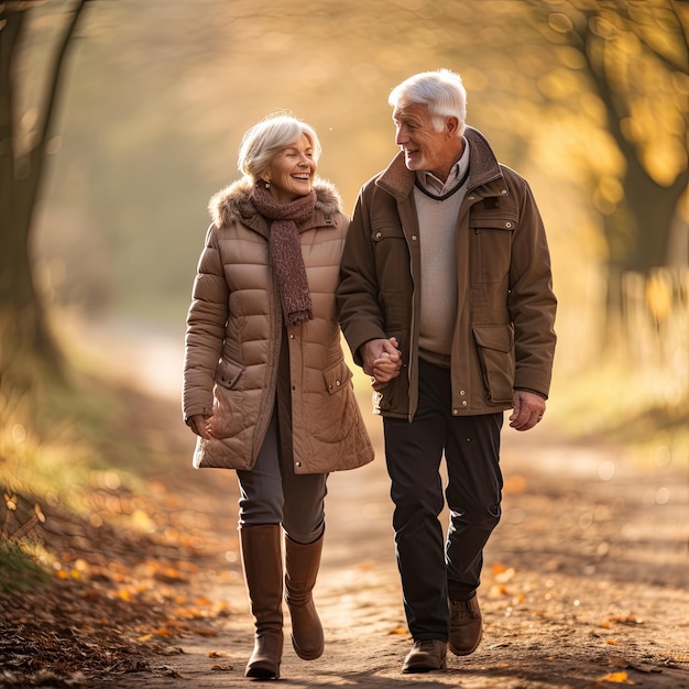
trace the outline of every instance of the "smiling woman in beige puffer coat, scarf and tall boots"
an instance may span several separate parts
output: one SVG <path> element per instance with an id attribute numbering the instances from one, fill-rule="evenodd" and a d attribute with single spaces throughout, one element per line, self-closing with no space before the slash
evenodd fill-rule
<path id="1" fill-rule="evenodd" d="M 335 292 L 349 226 L 316 176 L 311 127 L 275 114 L 239 152 L 243 177 L 209 204 L 212 223 L 187 316 L 183 411 L 194 466 L 236 469 L 244 578 L 255 619 L 247 677 L 277 678 L 285 600 L 292 643 L 324 650 L 311 590 L 330 471 L 373 459 L 340 347 Z"/>

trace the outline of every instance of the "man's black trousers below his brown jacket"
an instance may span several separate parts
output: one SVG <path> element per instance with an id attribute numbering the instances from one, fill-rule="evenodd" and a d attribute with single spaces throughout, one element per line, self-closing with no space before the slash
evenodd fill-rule
<path id="1" fill-rule="evenodd" d="M 385 459 L 404 609 L 414 641 L 447 639 L 447 599 L 468 600 L 481 582 L 483 547 L 501 516 L 502 412 L 452 416 L 450 372 L 419 362 L 412 423 L 384 418 Z M 447 537 L 440 461 L 447 462 Z"/>

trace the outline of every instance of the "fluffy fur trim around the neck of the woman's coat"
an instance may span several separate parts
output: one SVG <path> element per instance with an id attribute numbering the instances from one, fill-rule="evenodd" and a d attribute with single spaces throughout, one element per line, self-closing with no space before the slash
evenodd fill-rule
<path id="1" fill-rule="evenodd" d="M 251 193 L 254 184 L 248 177 L 242 177 L 215 194 L 208 203 L 208 211 L 216 227 L 228 226 L 238 218 L 251 220 L 259 211 L 254 208 Z M 337 187 L 327 179 L 314 179 L 316 190 L 316 214 L 322 214 L 328 219 L 343 212 L 342 197 Z"/>

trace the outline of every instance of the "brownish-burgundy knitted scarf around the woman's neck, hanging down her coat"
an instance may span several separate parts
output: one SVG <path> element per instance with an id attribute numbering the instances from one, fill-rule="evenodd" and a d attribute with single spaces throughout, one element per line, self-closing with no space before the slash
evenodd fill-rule
<path id="1" fill-rule="evenodd" d="M 296 223 L 314 212 L 316 192 L 311 189 L 289 204 L 277 204 L 267 189 L 256 185 L 251 197 L 256 210 L 272 221 L 269 248 L 285 322 L 288 326 L 306 322 L 314 313 Z"/>

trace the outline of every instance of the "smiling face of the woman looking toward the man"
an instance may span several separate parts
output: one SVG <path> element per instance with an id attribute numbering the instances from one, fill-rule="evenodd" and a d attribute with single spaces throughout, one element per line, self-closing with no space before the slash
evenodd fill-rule
<path id="1" fill-rule="evenodd" d="M 314 147 L 306 134 L 277 152 L 263 179 L 270 181 L 270 192 L 278 204 L 288 204 L 311 190 L 316 176 Z"/>

